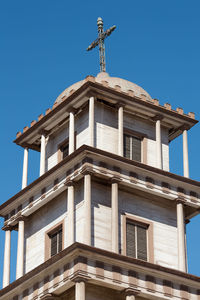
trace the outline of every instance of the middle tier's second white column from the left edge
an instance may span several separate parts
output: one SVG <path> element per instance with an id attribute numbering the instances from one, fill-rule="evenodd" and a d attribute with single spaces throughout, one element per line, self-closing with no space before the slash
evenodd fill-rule
<path id="1" fill-rule="evenodd" d="M 23 276 L 23 273 L 24 273 L 24 220 L 20 220 L 18 224 L 16 279 Z"/>

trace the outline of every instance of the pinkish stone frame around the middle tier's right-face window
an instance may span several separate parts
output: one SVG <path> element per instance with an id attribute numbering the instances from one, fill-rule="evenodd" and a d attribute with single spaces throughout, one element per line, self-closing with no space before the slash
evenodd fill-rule
<path id="1" fill-rule="evenodd" d="M 122 254 L 127 256 L 127 251 L 126 251 L 126 245 L 127 245 L 127 240 L 126 240 L 126 224 L 127 222 L 133 223 L 135 225 L 141 225 L 143 227 L 147 228 L 147 262 L 154 263 L 154 244 L 153 244 L 153 222 L 136 217 L 133 215 L 128 215 L 125 214 L 123 215 L 123 222 L 122 222 L 122 230 L 123 230 L 123 247 L 122 247 Z M 135 258 L 137 259 L 137 258 Z"/>

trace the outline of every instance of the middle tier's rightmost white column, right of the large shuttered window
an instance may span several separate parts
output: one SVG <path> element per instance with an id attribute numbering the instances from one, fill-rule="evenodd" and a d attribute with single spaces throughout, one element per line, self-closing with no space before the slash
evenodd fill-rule
<path id="1" fill-rule="evenodd" d="M 178 232 L 178 269 L 180 271 L 186 272 L 184 207 L 181 200 L 177 200 L 177 232 Z"/>

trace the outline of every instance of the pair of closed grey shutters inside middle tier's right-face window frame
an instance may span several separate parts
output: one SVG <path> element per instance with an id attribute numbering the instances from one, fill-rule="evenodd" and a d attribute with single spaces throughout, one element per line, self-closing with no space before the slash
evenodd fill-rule
<path id="1" fill-rule="evenodd" d="M 126 222 L 126 254 L 147 261 L 147 226 Z"/>

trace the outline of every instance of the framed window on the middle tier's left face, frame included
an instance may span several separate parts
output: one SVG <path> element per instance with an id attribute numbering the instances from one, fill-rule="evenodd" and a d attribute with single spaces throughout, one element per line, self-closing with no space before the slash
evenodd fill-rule
<path id="1" fill-rule="evenodd" d="M 45 233 L 45 260 L 63 250 L 63 228 L 60 222 Z"/>

